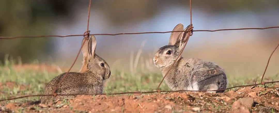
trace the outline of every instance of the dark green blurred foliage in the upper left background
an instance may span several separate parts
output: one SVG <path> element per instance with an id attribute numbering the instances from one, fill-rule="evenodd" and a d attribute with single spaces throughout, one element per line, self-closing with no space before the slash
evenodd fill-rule
<path id="1" fill-rule="evenodd" d="M 0 36 L 49 35 L 54 19 L 71 17 L 74 0 L 1 0 Z M 23 63 L 49 55 L 51 38 L 0 40 L 0 61 L 5 54 L 20 56 Z"/>

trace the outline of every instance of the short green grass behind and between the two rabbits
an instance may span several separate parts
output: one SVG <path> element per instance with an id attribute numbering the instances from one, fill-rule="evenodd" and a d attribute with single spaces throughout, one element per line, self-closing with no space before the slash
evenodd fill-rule
<path id="1" fill-rule="evenodd" d="M 13 69 L 13 61 L 5 60 L 4 63 L 0 63 L 0 82 L 15 82 L 19 85 L 15 85 L 13 88 L 0 85 L 0 99 L 7 99 L 11 97 L 17 97 L 20 95 L 41 94 L 44 90 L 45 84 L 49 82 L 53 77 L 60 73 L 49 73 L 45 71 L 36 70 L 24 70 L 15 71 Z M 138 69 L 137 72 L 131 74 L 130 72 L 122 72 L 119 70 L 111 70 L 112 74 L 108 80 L 105 81 L 104 93 L 115 92 L 134 92 L 134 91 L 154 91 L 157 85 L 162 79 L 160 72 L 147 72 Z M 254 83 L 254 79 L 259 83 L 260 77 L 253 75 L 246 76 L 234 76 L 230 73 L 227 74 L 228 87 L 235 85 L 246 85 Z M 268 76 L 268 78 L 278 78 L 278 73 Z M 272 81 L 272 80 L 269 80 Z M 20 85 L 25 85 L 27 88 L 20 90 Z M 162 83 L 161 90 L 170 90 L 169 87 Z M 234 90 L 234 89 L 233 89 Z M 23 102 L 26 100 L 38 100 L 39 97 L 28 97 L 23 99 L 16 99 L 11 101 L 0 102 L 1 105 L 9 102 Z"/>

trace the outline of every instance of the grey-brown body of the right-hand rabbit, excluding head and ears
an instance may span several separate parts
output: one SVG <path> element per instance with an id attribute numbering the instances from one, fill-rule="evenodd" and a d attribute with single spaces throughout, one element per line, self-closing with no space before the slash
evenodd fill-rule
<path id="1" fill-rule="evenodd" d="M 169 67 L 161 68 L 163 76 Z M 171 90 L 217 90 L 227 87 L 223 68 L 198 58 L 180 58 L 171 68 L 165 82 Z M 220 91 L 223 92 L 223 91 Z"/>

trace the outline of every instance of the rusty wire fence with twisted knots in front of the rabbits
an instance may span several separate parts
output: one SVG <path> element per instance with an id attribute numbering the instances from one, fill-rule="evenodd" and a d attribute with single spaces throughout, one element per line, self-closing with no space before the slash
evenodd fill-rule
<path id="1" fill-rule="evenodd" d="M 44 35 L 44 36 L 15 36 L 15 37 L 6 37 L 6 36 L 0 36 L 0 39 L 15 39 L 15 38 L 40 38 L 40 37 L 60 37 L 60 38 L 64 38 L 64 37 L 70 37 L 70 36 L 83 36 L 84 38 L 88 38 L 90 35 L 111 35 L 111 36 L 115 36 L 115 35 L 132 35 L 132 34 L 147 34 L 147 33 L 171 33 L 171 32 L 190 32 L 192 36 L 193 32 L 196 31 L 209 31 L 209 32 L 215 32 L 215 31 L 225 31 L 225 30 L 264 30 L 264 29 L 271 29 L 271 28 L 279 28 L 279 26 L 272 26 L 272 27 L 266 27 L 266 28 L 234 28 L 234 29 L 218 29 L 218 30 L 193 30 L 193 24 L 192 24 L 192 1 L 189 0 L 190 2 L 190 27 L 189 29 L 185 30 L 185 31 L 165 31 L 165 32 L 136 32 L 136 33 L 116 33 L 116 34 L 107 34 L 107 33 L 102 33 L 102 34 L 90 34 L 90 30 L 89 30 L 89 18 L 90 18 L 90 7 L 91 7 L 91 1 L 89 1 L 89 6 L 88 6 L 88 17 L 87 17 L 87 26 L 86 26 L 86 31 L 83 34 L 78 34 L 78 35 Z M 189 36 L 189 37 L 190 37 Z M 186 44 L 187 41 L 189 40 L 189 37 L 187 37 L 186 39 Z M 84 43 L 83 43 L 84 44 Z M 268 58 L 266 67 L 264 68 L 264 72 L 263 75 L 261 77 L 261 83 L 255 83 L 255 84 L 250 84 L 250 85 L 239 85 L 239 86 L 234 86 L 234 87 L 229 87 L 226 89 L 218 89 L 218 90 L 159 90 L 161 83 L 163 82 L 164 78 L 168 75 L 170 69 L 173 67 L 174 63 L 171 65 L 171 68 L 167 71 L 166 75 L 163 77 L 163 79 L 161 80 L 160 84 L 158 85 L 156 91 L 148 91 L 148 92 L 118 92 L 118 93 L 101 93 L 101 94 L 96 94 L 96 93 L 87 93 L 87 94 L 56 94 L 55 91 L 58 89 L 58 87 L 60 86 L 61 82 L 64 80 L 64 78 L 67 76 L 67 74 L 70 72 L 71 68 L 74 66 L 74 64 L 76 63 L 76 60 L 81 52 L 82 46 L 81 45 L 76 58 L 74 59 L 73 64 L 71 65 L 71 67 L 69 68 L 68 72 L 64 75 L 64 77 L 61 79 L 61 81 L 59 82 L 59 84 L 57 85 L 57 87 L 53 90 L 52 94 L 49 95 L 24 95 L 24 96 L 20 96 L 20 97 L 14 97 L 14 98 L 8 98 L 8 99 L 2 99 L 1 101 L 5 101 L 5 100 L 13 100 L 13 99 L 20 99 L 20 98 L 25 98 L 25 97 L 35 97 L 35 96 L 56 96 L 56 95 L 116 95 L 116 94 L 146 94 L 146 93 L 160 93 L 160 92 L 182 92 L 182 91 L 189 91 L 189 92 L 207 92 L 207 91 L 223 91 L 223 90 L 228 90 L 228 89 L 233 89 L 233 88 L 238 88 L 238 87 L 248 87 L 248 86 L 256 86 L 256 85 L 265 85 L 268 83 L 277 83 L 279 81 L 272 81 L 272 82 L 264 82 L 263 78 L 264 78 L 264 74 L 268 68 L 268 64 L 270 62 L 270 58 L 273 55 L 273 53 L 275 52 L 275 50 L 278 48 L 278 45 L 274 48 L 274 50 L 271 52 L 270 57 Z M 179 56 L 177 57 L 177 59 L 180 57 L 180 55 L 182 54 L 186 44 L 184 45 L 182 51 L 179 53 Z M 176 60 L 177 60 L 176 59 Z"/>

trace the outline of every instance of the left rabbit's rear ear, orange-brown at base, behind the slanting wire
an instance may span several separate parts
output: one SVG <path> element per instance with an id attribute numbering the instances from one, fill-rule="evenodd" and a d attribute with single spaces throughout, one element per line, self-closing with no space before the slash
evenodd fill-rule
<path id="1" fill-rule="evenodd" d="M 88 39 L 89 38 L 83 38 L 82 43 L 81 43 L 81 45 L 83 45 L 82 46 L 83 61 L 82 61 L 82 65 L 81 65 L 81 68 L 79 71 L 81 73 L 86 72 L 86 70 L 87 70 L 87 65 L 88 65 L 88 60 L 89 60 L 89 58 L 88 58 L 89 54 L 87 51 Z"/>

